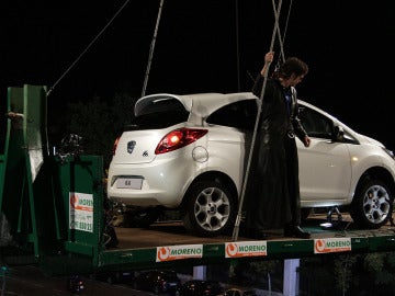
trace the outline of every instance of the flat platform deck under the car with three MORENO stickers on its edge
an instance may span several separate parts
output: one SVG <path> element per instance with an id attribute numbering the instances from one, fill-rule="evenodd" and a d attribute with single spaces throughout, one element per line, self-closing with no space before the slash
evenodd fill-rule
<path id="1" fill-rule="evenodd" d="M 385 225 L 380 229 L 357 229 L 351 218 L 334 221 L 334 228 L 323 228 L 325 215 L 311 215 L 304 229 L 311 239 L 283 236 L 282 230 L 270 232 L 268 240 L 250 240 L 232 236 L 214 238 L 188 234 L 180 221 L 156 223 L 148 228 L 116 227 L 120 243 L 103 252 L 102 264 L 114 262 L 131 266 L 153 267 L 177 264 L 213 264 L 232 260 L 293 259 L 343 252 L 377 252 L 395 249 L 395 227 Z"/>

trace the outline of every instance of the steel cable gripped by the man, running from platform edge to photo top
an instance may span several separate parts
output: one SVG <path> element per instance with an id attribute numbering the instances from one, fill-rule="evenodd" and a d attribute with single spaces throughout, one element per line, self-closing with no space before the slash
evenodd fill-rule
<path id="1" fill-rule="evenodd" d="M 291 0 L 291 4 L 292 4 L 292 0 Z M 289 11 L 291 10 L 291 4 L 290 4 Z M 280 26 L 279 26 L 282 0 L 279 0 L 278 8 L 275 8 L 275 0 L 272 0 L 272 5 L 273 5 L 273 12 L 274 12 L 274 27 L 273 27 L 272 38 L 271 38 L 271 43 L 270 43 L 270 52 L 273 52 L 275 36 L 278 35 L 279 41 L 280 41 L 282 58 L 284 60 L 285 59 L 284 50 L 283 50 L 283 41 L 284 39 L 281 38 L 281 32 L 280 32 Z M 289 18 L 290 18 L 290 13 L 287 15 L 287 19 Z M 286 21 L 286 25 L 287 25 L 287 21 Z M 237 239 L 238 239 L 238 234 L 239 234 L 239 228 L 240 228 L 240 223 L 241 223 L 241 217 L 242 217 L 242 204 L 244 204 L 244 198 L 245 198 L 245 194 L 246 194 L 248 174 L 249 174 L 250 167 L 251 167 L 252 152 L 253 152 L 255 141 L 256 141 L 256 137 L 257 137 L 257 130 L 258 130 L 258 125 L 259 125 L 259 121 L 260 121 L 261 110 L 262 110 L 261 106 L 263 103 L 263 95 L 264 95 L 266 86 L 267 86 L 267 81 L 268 81 L 269 68 L 270 68 L 270 64 L 268 65 L 268 67 L 266 68 L 266 72 L 263 73 L 263 86 L 262 86 L 262 91 L 260 93 L 260 98 L 259 98 L 259 102 L 258 102 L 258 114 L 257 114 L 257 118 L 256 118 L 256 123 L 255 123 L 255 127 L 253 127 L 252 140 L 251 140 L 251 146 L 250 146 L 250 151 L 249 151 L 248 162 L 247 162 L 247 169 L 246 169 L 246 173 L 245 173 L 245 178 L 244 178 L 244 182 L 242 182 L 241 195 L 240 195 L 240 200 L 239 200 L 239 208 L 238 208 L 235 227 L 234 227 L 234 231 L 233 231 L 233 238 L 232 238 L 233 241 L 237 241 Z"/>

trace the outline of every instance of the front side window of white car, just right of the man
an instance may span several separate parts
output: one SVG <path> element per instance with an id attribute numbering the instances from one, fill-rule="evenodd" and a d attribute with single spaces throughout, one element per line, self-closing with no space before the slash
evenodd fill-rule
<path id="1" fill-rule="evenodd" d="M 300 105 L 298 118 L 309 137 L 331 139 L 334 123 L 323 114 Z"/>

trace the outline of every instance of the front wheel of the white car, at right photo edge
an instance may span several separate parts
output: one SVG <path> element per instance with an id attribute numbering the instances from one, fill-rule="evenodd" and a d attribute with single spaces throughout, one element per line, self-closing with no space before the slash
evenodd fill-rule
<path id="1" fill-rule="evenodd" d="M 377 229 L 390 220 L 394 196 L 384 182 L 365 179 L 356 191 L 350 215 L 358 227 Z"/>

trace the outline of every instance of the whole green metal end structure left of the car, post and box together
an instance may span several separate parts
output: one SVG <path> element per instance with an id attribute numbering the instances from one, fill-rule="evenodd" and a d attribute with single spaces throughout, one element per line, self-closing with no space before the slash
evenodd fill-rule
<path id="1" fill-rule="evenodd" d="M 92 270 L 103 234 L 102 157 L 49 156 L 46 99 L 45 87 L 8 89 L 0 209 L 24 262 Z"/>

